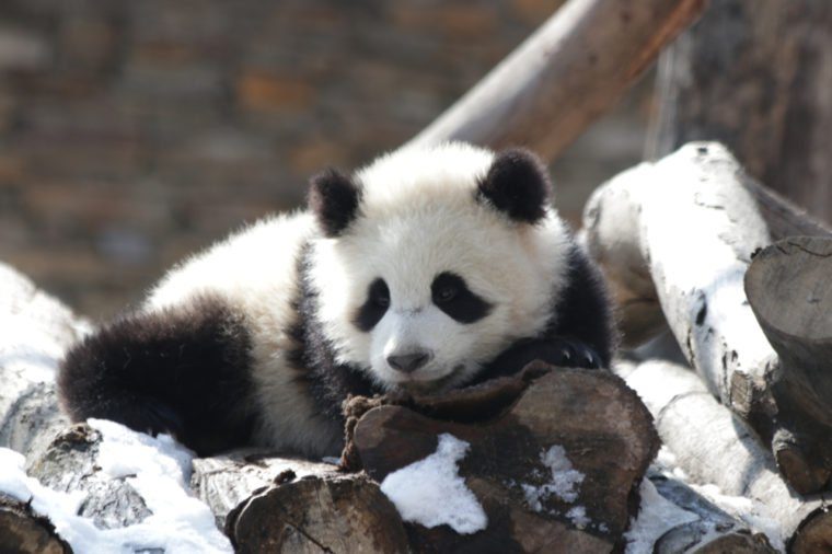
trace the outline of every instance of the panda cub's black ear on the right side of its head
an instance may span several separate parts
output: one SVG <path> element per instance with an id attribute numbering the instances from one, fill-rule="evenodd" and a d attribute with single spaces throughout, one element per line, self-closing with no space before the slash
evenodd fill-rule
<path id="1" fill-rule="evenodd" d="M 536 223 L 546 215 L 552 191 L 548 172 L 528 150 L 513 148 L 494 157 L 488 173 L 479 181 L 477 199 L 521 223 Z"/>

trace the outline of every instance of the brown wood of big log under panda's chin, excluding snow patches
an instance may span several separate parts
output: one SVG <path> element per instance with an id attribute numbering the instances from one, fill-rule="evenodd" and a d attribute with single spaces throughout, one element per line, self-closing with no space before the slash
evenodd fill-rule
<path id="1" fill-rule="evenodd" d="M 637 506 L 638 484 L 658 448 L 649 415 L 610 373 L 550 371 L 539 362 L 529 372 L 534 377 L 527 373 L 457 391 L 454 403 L 466 409 L 483 402 L 487 418 L 476 423 L 460 423 L 450 405 L 443 406 L 443 415 L 454 420 L 429 418 L 415 411 L 421 409 L 418 405 L 388 405 L 370 409 L 358 422 L 355 446 L 365 469 L 379 482 L 432 454 L 441 434 L 470 445 L 460 475 L 483 506 L 487 528 L 462 536 L 446 526 L 407 523 L 418 551 L 464 546 L 472 552 L 610 552 L 621 541 Z M 506 388 L 519 397 L 508 406 L 495 403 L 500 395 L 483 393 L 489 386 Z M 427 411 L 441 412 L 436 404 Z M 573 501 L 553 495 L 541 498 L 535 508 L 522 485 L 540 487 L 552 478 L 542 454 L 554 446 L 563 447 L 586 478 Z M 570 516 L 576 507 L 586 510 L 585 520 Z"/>

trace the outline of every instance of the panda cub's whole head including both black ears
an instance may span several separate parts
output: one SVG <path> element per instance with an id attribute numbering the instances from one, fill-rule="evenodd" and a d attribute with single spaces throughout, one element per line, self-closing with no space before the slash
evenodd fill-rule
<path id="1" fill-rule="evenodd" d="M 462 384 L 553 316 L 569 239 L 522 150 L 403 149 L 312 180 L 308 278 L 336 361 L 385 389 Z"/>

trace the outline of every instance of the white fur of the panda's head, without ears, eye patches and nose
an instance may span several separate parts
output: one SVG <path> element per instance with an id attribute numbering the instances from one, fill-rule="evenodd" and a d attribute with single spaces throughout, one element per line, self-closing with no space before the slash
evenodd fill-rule
<path id="1" fill-rule="evenodd" d="M 534 336 L 548 322 L 569 245 L 563 221 L 550 208 L 541 224 L 515 223 L 472 201 L 493 158 L 454 143 L 394 152 L 356 174 L 360 216 L 344 236 L 317 239 L 311 264 L 321 293 L 319 315 L 338 361 L 370 368 L 385 389 L 440 381 L 464 365 L 446 383 L 455 386 L 508 344 Z M 523 270 L 509 273 L 504 266 Z M 495 310 L 473 324 L 442 313 L 431 303 L 429 285 L 443 270 L 465 276 Z M 377 277 L 391 287 L 392 304 L 370 333 L 362 333 L 353 314 Z M 436 356 L 414 373 L 395 371 L 385 361 L 417 347 Z"/>

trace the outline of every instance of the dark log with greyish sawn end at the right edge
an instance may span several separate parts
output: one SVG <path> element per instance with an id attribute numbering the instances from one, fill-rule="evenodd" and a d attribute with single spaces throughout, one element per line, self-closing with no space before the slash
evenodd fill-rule
<path id="1" fill-rule="evenodd" d="M 781 471 L 800 493 L 827 487 L 832 475 L 832 238 L 791 238 L 756 255 L 746 291 L 779 357 L 769 386 Z"/>

